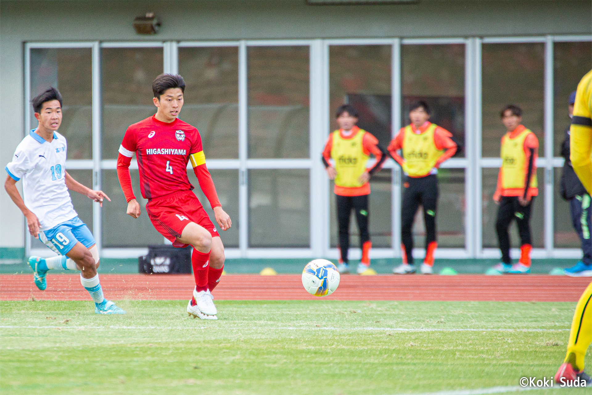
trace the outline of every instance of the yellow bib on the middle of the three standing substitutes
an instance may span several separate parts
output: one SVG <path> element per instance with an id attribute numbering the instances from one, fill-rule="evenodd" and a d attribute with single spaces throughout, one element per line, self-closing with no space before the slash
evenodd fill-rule
<path id="1" fill-rule="evenodd" d="M 411 177 L 430 174 L 444 150 L 436 148 L 434 132 L 436 124 L 430 124 L 422 134 L 413 133 L 411 125 L 405 127 L 403 137 L 403 171 Z"/>

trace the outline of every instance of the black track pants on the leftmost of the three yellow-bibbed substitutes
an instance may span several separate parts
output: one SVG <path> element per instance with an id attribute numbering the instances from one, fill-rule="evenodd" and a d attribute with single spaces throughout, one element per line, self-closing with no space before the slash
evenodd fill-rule
<path id="1" fill-rule="evenodd" d="M 370 240 L 368 232 L 368 196 L 337 196 L 337 223 L 339 223 L 339 248 L 343 263 L 348 263 L 349 217 L 352 208 L 356 213 L 356 222 L 360 230 L 360 246 Z"/>

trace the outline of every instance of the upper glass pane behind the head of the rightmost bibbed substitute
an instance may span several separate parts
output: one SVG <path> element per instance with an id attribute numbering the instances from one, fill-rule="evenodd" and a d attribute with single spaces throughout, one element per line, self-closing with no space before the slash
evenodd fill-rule
<path id="1" fill-rule="evenodd" d="M 483 44 L 482 145 L 483 157 L 500 156 L 506 128 L 500 111 L 507 104 L 522 108 L 522 124 L 543 139 L 545 44 Z"/>

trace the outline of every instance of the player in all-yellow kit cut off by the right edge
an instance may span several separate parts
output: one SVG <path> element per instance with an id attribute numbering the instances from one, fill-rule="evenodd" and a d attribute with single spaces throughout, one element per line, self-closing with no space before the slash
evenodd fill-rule
<path id="1" fill-rule="evenodd" d="M 592 70 L 578 84 L 575 94 L 574 116 L 570 128 L 571 164 L 575 174 L 592 194 Z M 588 285 L 575 306 L 571 322 L 570 341 L 564 363 L 555 374 L 555 381 L 585 381 L 592 379 L 584 373 L 584 357 L 592 341 L 592 283 Z"/>

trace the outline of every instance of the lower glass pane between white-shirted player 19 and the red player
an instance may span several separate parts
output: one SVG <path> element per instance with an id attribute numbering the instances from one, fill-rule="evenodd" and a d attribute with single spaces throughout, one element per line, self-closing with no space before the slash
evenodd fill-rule
<path id="1" fill-rule="evenodd" d="M 111 201 L 103 204 L 102 216 L 102 240 L 104 248 L 135 247 L 145 248 L 152 244 L 162 244 L 164 238 L 156 232 L 152 222 L 146 214 L 146 203 L 140 194 L 140 180 L 137 170 L 130 170 L 131 185 L 140 204 L 140 217 L 134 219 L 126 214 L 126 197 L 121 191 L 117 171 L 102 171 L 102 190 Z"/>

